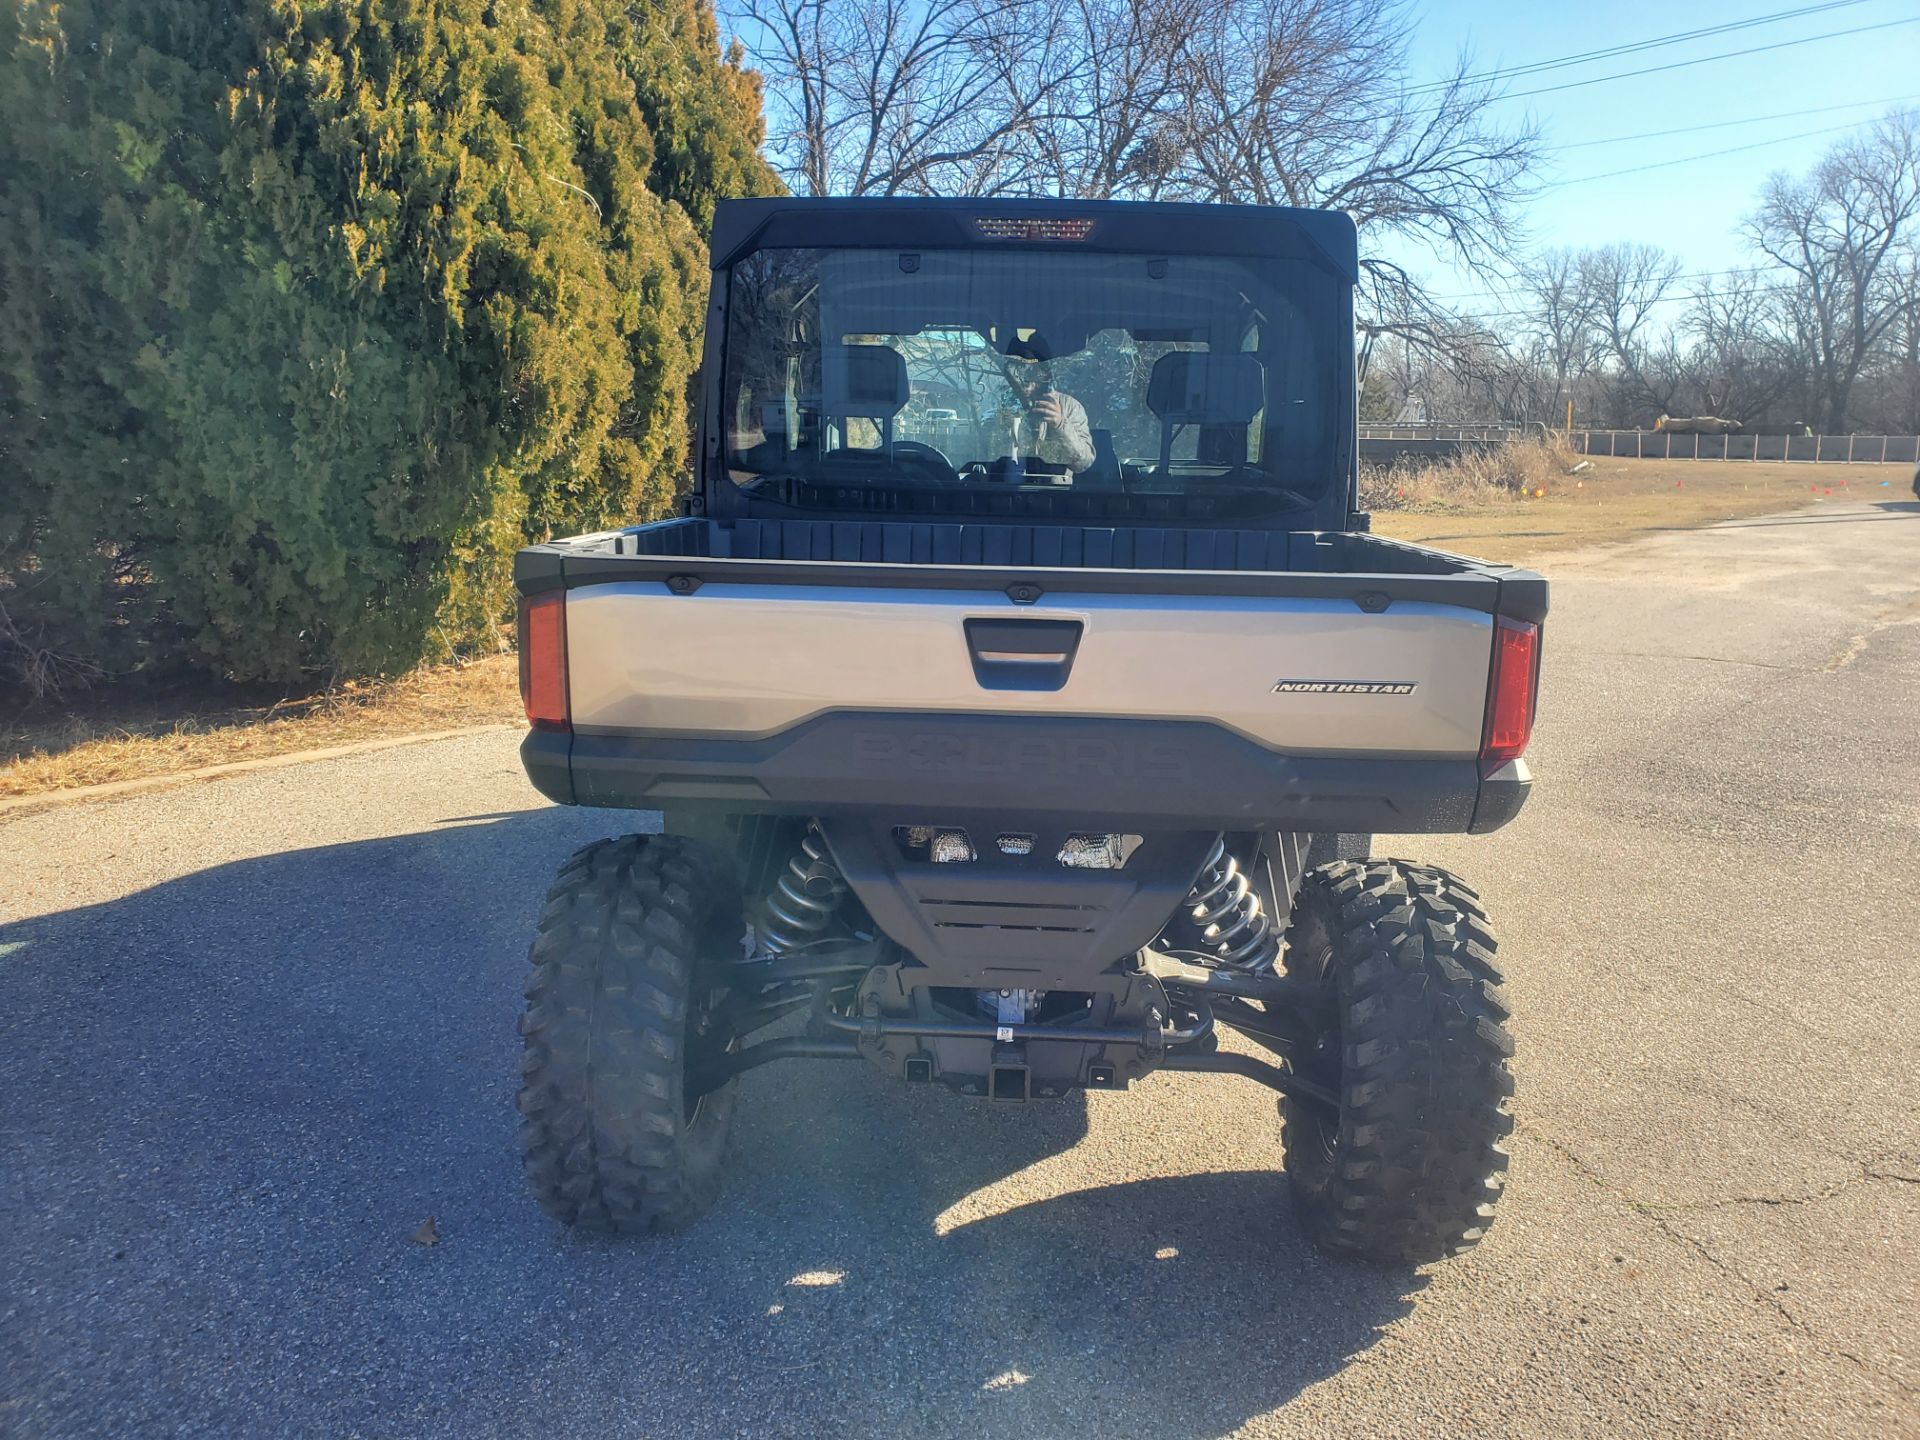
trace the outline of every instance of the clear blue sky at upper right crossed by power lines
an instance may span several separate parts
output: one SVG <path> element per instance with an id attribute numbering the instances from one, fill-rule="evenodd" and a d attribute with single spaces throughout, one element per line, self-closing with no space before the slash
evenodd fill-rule
<path id="1" fill-rule="evenodd" d="M 1611 6 L 1551 6 L 1521 0 L 1428 0 L 1417 8 L 1419 29 L 1409 83 L 1442 75 L 1465 48 L 1475 69 L 1498 69 L 1651 40 L 1678 31 L 1801 10 L 1818 0 L 1755 0 L 1751 4 L 1649 4 L 1617 0 Z M 1703 60 L 1730 50 L 1801 40 L 1830 31 L 1914 19 L 1916 23 L 1793 44 L 1766 54 Z M 1703 60 L 1665 73 L 1640 73 L 1653 65 Z M 1590 246 L 1615 240 L 1655 244 L 1682 257 L 1688 273 L 1722 271 L 1751 263 L 1738 236 L 1738 223 L 1753 209 L 1766 175 L 1776 169 L 1805 171 L 1849 129 L 1872 121 L 1905 96 L 1920 106 L 1920 4 L 1914 0 L 1859 0 L 1820 13 L 1770 25 L 1703 36 L 1634 56 L 1571 65 L 1507 83 L 1509 92 L 1628 73 L 1628 79 L 1563 88 L 1553 94 L 1505 100 L 1500 113 L 1532 113 L 1548 146 L 1546 180 L 1572 180 L 1544 190 L 1526 219 L 1536 246 Z M 1851 106 L 1847 109 L 1828 109 Z M 1782 119 L 1757 119 L 1782 111 L 1811 111 Z M 1753 121 L 1693 134 L 1668 134 L 1626 144 L 1592 144 L 1722 121 Z M 1820 131 L 1820 134 L 1807 134 Z M 1788 138 L 1799 136 L 1799 138 Z M 1780 140 L 1741 154 L 1665 165 L 1640 175 L 1597 177 L 1655 161 L 1703 156 L 1732 146 Z M 1396 248 L 1396 259 L 1427 275 L 1440 294 L 1459 294 L 1461 309 L 1500 309 L 1484 280 L 1452 265 Z"/>

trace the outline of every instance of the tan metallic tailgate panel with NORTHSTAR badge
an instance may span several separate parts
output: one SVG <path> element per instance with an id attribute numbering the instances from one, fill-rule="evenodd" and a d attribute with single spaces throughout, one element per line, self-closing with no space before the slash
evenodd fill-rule
<path id="1" fill-rule="evenodd" d="M 985 687 L 968 618 L 1077 620 L 1066 684 Z M 1212 720 L 1292 755 L 1475 755 L 1490 647 L 1490 616 L 1423 601 L 655 582 L 566 597 L 574 726 L 601 732 L 760 737 L 824 710 L 941 710 Z"/>

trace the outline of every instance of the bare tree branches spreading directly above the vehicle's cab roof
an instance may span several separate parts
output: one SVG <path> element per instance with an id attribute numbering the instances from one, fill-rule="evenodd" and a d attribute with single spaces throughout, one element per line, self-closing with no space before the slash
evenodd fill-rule
<path id="1" fill-rule="evenodd" d="M 1048 194 L 1346 209 L 1500 261 L 1538 157 L 1467 61 L 1407 88 L 1407 0 L 735 0 L 772 152 L 808 194 Z M 1369 253 L 1365 305 L 1452 323 Z"/>

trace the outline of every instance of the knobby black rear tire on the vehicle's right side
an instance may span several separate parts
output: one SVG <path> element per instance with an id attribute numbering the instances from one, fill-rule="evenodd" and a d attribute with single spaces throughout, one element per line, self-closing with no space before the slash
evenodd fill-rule
<path id="1" fill-rule="evenodd" d="M 1294 1208 L 1323 1250 L 1425 1263 L 1492 1223 L 1513 1133 L 1496 945 L 1446 870 L 1367 860 L 1302 879 L 1286 972 L 1319 1048 L 1294 1068 L 1340 1110 L 1283 1100 L 1281 1117 Z"/>

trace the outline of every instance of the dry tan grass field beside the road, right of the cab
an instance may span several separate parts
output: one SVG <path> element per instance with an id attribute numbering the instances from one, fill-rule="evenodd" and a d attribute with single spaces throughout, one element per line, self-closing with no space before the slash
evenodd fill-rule
<path id="1" fill-rule="evenodd" d="M 1530 453 L 1528 453 L 1530 451 Z M 1377 534 L 1421 545 L 1521 561 L 1659 530 L 1774 515 L 1837 499 L 1912 501 L 1910 465 L 1788 465 L 1782 461 L 1628 461 L 1530 445 L 1361 482 Z M 1544 493 L 1536 493 L 1544 492 Z"/>

